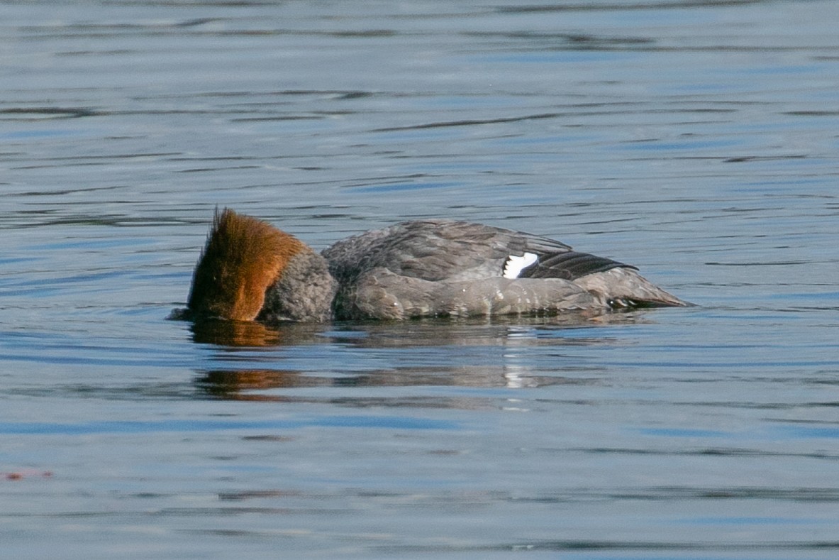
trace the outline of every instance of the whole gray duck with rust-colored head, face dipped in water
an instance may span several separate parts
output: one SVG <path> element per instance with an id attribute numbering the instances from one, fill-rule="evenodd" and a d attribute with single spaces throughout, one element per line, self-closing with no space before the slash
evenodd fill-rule
<path id="1" fill-rule="evenodd" d="M 451 219 L 375 229 L 317 253 L 256 217 L 213 216 L 188 317 L 329 322 L 690 306 L 638 268 L 552 238 Z"/>

